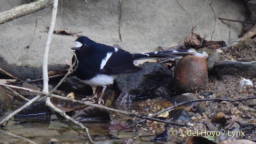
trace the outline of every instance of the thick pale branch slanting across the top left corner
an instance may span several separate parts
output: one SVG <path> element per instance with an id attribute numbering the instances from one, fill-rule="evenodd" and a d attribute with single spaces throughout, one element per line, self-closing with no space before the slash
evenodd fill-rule
<path id="1" fill-rule="evenodd" d="M 34 12 L 37 12 L 38 10 L 42 10 L 46 8 L 46 6 L 49 6 L 50 4 L 52 4 L 52 0 L 38 0 L 30 4 L 23 4 L 21 6 L 12 8 L 11 10 L 1 12 L 0 24 L 3 24 L 5 22 L 10 22 L 16 18 L 20 18 L 28 14 L 32 14 Z"/>

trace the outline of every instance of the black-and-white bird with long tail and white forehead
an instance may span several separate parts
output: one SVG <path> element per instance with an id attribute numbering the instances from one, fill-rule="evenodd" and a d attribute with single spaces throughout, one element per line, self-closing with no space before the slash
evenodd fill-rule
<path id="1" fill-rule="evenodd" d="M 80 36 L 75 40 L 75 55 L 78 60 L 74 75 L 84 83 L 92 86 L 94 96 L 97 98 L 99 89 L 102 86 L 102 92 L 98 99 L 98 104 L 102 102 L 102 96 L 106 87 L 114 83 L 113 75 L 130 74 L 142 70 L 134 65 L 134 60 L 150 58 L 168 58 L 173 59 L 177 56 L 194 55 L 205 58 L 204 54 L 189 50 L 169 50 L 161 52 L 135 53 L 132 54 L 120 48 L 114 48 L 105 44 L 97 43 L 86 36 Z M 72 63 L 75 56 L 72 58 Z M 104 101 L 103 101 L 104 103 Z"/>

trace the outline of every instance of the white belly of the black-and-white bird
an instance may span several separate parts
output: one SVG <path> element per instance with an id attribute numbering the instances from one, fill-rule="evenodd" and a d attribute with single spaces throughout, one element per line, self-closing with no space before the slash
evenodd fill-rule
<path id="1" fill-rule="evenodd" d="M 108 86 L 109 84 L 114 83 L 114 78 L 106 74 L 98 74 L 96 77 L 90 80 L 83 80 L 84 83 L 89 84 L 90 86 Z"/>

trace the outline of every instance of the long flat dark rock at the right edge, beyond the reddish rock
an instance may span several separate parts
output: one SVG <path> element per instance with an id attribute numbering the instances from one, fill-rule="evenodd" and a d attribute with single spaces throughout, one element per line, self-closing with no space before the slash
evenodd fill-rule
<path id="1" fill-rule="evenodd" d="M 245 78 L 256 78 L 256 62 L 240 62 L 227 60 L 214 64 L 214 71 L 219 75 L 232 75 Z"/>

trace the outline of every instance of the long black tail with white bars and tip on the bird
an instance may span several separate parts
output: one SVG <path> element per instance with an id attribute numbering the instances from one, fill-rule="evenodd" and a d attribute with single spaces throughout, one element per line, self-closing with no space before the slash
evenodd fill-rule
<path id="1" fill-rule="evenodd" d="M 150 58 L 168 58 L 174 59 L 177 56 L 186 56 L 186 55 L 194 55 L 200 58 L 207 58 L 207 54 L 200 54 L 197 52 L 193 52 L 190 50 L 169 50 L 169 51 L 162 51 L 162 52 L 148 52 L 144 54 L 133 54 L 134 60 L 143 60 L 143 59 L 150 59 Z"/>

